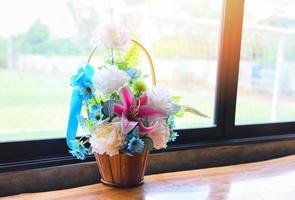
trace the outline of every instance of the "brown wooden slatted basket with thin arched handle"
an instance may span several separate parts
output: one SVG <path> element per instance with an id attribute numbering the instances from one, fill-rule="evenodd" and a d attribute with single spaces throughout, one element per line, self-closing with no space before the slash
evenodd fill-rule
<path id="1" fill-rule="evenodd" d="M 152 83 L 156 85 L 155 70 L 150 54 L 141 43 L 134 39 L 131 41 L 145 53 L 150 65 Z M 96 48 L 92 49 L 90 52 L 88 63 L 95 50 Z M 143 184 L 148 155 L 149 151 L 147 149 L 145 149 L 143 153 L 135 153 L 133 156 L 123 153 L 115 156 L 96 153 L 95 159 L 101 175 L 101 182 L 108 186 L 123 188 Z"/>

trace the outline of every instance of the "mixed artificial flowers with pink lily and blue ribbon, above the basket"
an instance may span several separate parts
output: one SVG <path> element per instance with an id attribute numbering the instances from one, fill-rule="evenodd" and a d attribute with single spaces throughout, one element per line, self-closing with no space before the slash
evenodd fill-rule
<path id="1" fill-rule="evenodd" d="M 70 153 L 85 159 L 94 152 L 133 155 L 145 148 L 166 148 L 178 136 L 175 117 L 188 109 L 178 105 L 178 98 L 167 90 L 147 87 L 146 76 L 137 68 L 138 47 L 130 43 L 124 27 L 108 25 L 97 38 L 97 44 L 111 53 L 103 65 L 86 64 L 71 79 Z M 78 124 L 87 133 L 80 139 L 76 139 Z"/>

